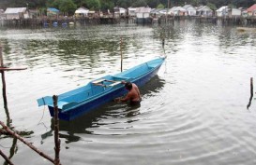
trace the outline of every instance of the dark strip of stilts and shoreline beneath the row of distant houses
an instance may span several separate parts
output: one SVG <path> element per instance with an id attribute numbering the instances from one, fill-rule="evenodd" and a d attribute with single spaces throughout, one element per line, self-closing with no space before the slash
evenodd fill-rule
<path id="1" fill-rule="evenodd" d="M 137 24 L 162 24 L 173 21 L 182 20 L 196 20 L 200 23 L 221 23 L 221 24 L 233 24 L 233 25 L 256 25 L 255 17 L 233 17 L 233 18 L 221 18 L 221 17 L 188 17 L 188 16 L 169 16 L 161 18 L 150 18 L 147 23 L 141 23 L 134 17 L 126 18 L 113 18 L 113 17 L 98 17 L 98 18 L 38 18 L 38 19 L 20 19 L 20 20 L 0 20 L 0 27 L 7 28 L 36 28 L 36 27 L 67 27 L 80 25 L 91 25 L 91 24 L 114 24 L 120 23 L 121 21 L 126 23 L 137 23 Z"/>

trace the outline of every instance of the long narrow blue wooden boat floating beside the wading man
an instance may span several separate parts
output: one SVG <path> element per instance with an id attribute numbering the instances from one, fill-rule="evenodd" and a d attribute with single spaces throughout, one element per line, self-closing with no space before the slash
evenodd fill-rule
<path id="1" fill-rule="evenodd" d="M 143 86 L 153 76 L 165 58 L 144 62 L 114 76 L 103 76 L 89 82 L 87 85 L 58 95 L 59 118 L 72 120 L 84 113 L 97 108 L 99 105 L 113 101 L 127 91 L 121 81 L 130 81 L 137 86 Z M 38 106 L 48 105 L 53 117 L 53 97 L 46 96 L 38 99 Z"/>

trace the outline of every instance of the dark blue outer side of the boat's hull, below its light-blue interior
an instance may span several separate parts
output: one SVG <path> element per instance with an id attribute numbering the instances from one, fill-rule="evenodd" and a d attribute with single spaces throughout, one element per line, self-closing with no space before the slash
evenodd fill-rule
<path id="1" fill-rule="evenodd" d="M 146 82 L 148 82 L 152 77 L 156 76 L 158 74 L 158 70 L 160 68 L 160 65 L 158 67 L 154 68 L 151 72 L 148 72 L 147 74 L 138 77 L 131 82 L 135 83 L 138 87 L 142 87 Z M 62 112 L 59 110 L 58 117 L 62 120 L 73 120 L 77 117 L 81 117 L 84 114 L 92 111 L 93 109 L 98 108 L 99 106 L 109 103 L 113 101 L 114 98 L 120 97 L 127 93 L 127 90 L 124 88 L 124 86 L 119 87 L 117 89 L 113 89 L 112 91 L 102 95 L 101 97 L 98 97 L 97 99 L 89 102 L 89 103 L 83 103 L 80 106 L 77 106 L 71 110 L 68 110 L 67 112 Z M 54 110 L 53 106 L 48 106 L 51 116 L 54 116 Z"/>

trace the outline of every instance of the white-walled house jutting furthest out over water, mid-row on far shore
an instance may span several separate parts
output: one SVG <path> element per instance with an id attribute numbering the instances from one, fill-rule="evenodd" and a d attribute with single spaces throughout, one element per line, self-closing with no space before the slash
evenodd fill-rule
<path id="1" fill-rule="evenodd" d="M 136 23 L 151 23 L 150 17 L 151 7 L 137 7 L 136 8 Z"/>

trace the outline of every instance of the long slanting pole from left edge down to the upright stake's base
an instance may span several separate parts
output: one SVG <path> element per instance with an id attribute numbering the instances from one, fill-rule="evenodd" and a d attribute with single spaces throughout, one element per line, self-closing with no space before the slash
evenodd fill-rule
<path id="1" fill-rule="evenodd" d="M 34 146 L 33 144 L 28 143 L 28 142 L 26 142 L 25 140 L 23 140 L 23 138 L 22 138 L 19 134 L 17 134 L 16 132 L 9 130 L 9 128 L 8 128 L 2 121 L 0 121 L 0 125 L 3 127 L 4 130 L 8 131 L 8 133 L 10 133 L 12 136 L 14 136 L 14 137 L 16 137 L 17 139 L 19 139 L 20 141 L 22 141 L 23 144 L 26 144 L 27 146 L 29 146 L 31 149 L 33 149 L 35 152 L 37 152 L 41 157 L 46 158 L 46 159 L 48 159 L 49 161 L 51 161 L 51 162 L 54 163 L 53 158 L 51 158 L 51 157 L 45 155 L 43 152 L 41 152 L 40 150 L 38 150 L 38 148 L 37 148 L 36 146 Z"/>

